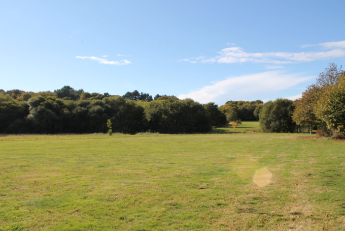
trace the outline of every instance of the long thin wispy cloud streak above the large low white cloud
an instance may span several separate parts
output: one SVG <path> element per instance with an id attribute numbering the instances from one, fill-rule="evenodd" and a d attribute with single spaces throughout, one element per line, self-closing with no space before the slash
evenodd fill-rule
<path id="1" fill-rule="evenodd" d="M 218 52 L 218 56 L 206 58 L 187 58 L 181 61 L 189 62 L 204 62 L 204 63 L 242 63 L 242 62 L 256 62 L 267 64 L 288 64 L 298 62 L 310 62 L 315 60 L 323 60 L 330 58 L 345 57 L 345 41 L 320 43 L 319 46 L 326 49 L 333 49 L 330 51 L 317 52 L 265 52 L 265 53 L 248 53 L 241 47 L 228 47 Z M 305 45 L 312 46 L 312 45 Z"/>

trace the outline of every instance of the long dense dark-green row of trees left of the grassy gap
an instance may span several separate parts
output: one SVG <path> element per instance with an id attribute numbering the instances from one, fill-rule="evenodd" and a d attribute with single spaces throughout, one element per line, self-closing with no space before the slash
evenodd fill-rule
<path id="1" fill-rule="evenodd" d="M 0 133 L 205 133 L 225 126 L 214 103 L 200 104 L 137 90 L 123 96 L 88 93 L 65 86 L 54 92 L 0 90 Z"/>

